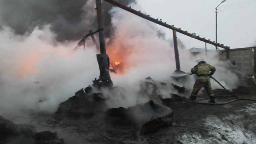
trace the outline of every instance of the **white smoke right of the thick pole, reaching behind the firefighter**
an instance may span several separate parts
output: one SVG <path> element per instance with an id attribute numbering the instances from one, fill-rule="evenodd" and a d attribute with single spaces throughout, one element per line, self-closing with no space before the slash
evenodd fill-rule
<path id="1" fill-rule="evenodd" d="M 136 5 L 132 5 L 132 7 L 140 9 Z M 117 51 L 119 51 L 118 54 L 127 68 L 121 75 L 111 74 L 114 85 L 138 87 L 139 81 L 148 76 L 153 80 L 165 82 L 167 85 L 170 83 L 180 85 L 179 81 L 170 79 L 176 70 L 174 48 L 169 45 L 168 41 L 157 37 L 158 29 L 155 24 L 120 8 L 113 8 L 111 13 L 115 39 L 108 46 L 111 48 L 111 52 L 118 53 Z M 188 50 L 179 48 L 181 70 L 190 73 L 191 68 L 197 65 L 198 57 L 203 57 L 207 63 L 216 67 L 217 71 L 213 77 L 219 80 L 223 86 L 227 89 L 237 87 L 240 82 L 238 76 L 229 69 L 230 63 L 219 60 L 219 53 L 216 51 L 208 53 L 207 56 L 204 53 L 193 56 Z M 195 79 L 195 75 L 189 75 L 187 81 L 182 85 L 192 90 Z M 211 83 L 213 89 L 222 89 L 214 80 L 211 80 Z M 158 85 L 158 87 L 161 86 Z M 169 93 L 178 94 L 177 89 L 171 87 L 159 91 L 165 97 Z"/>

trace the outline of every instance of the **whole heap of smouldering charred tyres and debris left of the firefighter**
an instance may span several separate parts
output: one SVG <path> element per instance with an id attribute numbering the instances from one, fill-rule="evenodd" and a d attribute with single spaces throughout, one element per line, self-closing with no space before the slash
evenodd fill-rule
<path id="1" fill-rule="evenodd" d="M 118 117 L 122 121 L 128 123 L 136 123 L 140 127 L 140 133 L 146 134 L 157 129 L 172 125 L 173 112 L 169 107 L 160 103 L 170 103 L 174 101 L 183 101 L 185 98 L 177 94 L 169 93 L 168 97 L 161 95 L 161 91 L 166 88 L 170 89 L 166 83 L 152 80 L 147 77 L 140 81 L 139 97 L 148 97 L 151 99 L 145 104 L 136 104 L 128 108 L 124 107 L 108 107 L 106 101 L 111 101 L 111 94 L 124 92 L 122 87 L 104 87 L 99 84 L 98 80 L 93 81 L 92 86 L 80 89 L 75 96 L 60 104 L 56 111 L 58 118 L 90 118 L 105 112 L 107 117 Z M 173 86 L 173 85 L 169 85 Z M 175 89 L 175 87 L 173 87 Z M 105 94 L 103 89 L 107 89 L 109 94 Z M 107 110 L 108 109 L 108 110 Z M 127 124 L 127 123 L 126 123 Z M 133 125 L 133 124 L 131 124 Z"/>

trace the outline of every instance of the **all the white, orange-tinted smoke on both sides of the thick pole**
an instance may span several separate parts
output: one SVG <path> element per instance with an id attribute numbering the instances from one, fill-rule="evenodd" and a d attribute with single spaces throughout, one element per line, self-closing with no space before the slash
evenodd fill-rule
<path id="1" fill-rule="evenodd" d="M 115 35 L 106 45 L 107 54 L 111 61 L 111 53 L 119 51 L 118 56 L 126 69 L 123 74 L 110 75 L 114 86 L 126 89 L 115 94 L 109 92 L 113 101 L 108 105 L 128 107 L 146 102 L 148 98 L 138 99 L 139 81 L 150 76 L 157 81 L 172 83 L 170 76 L 176 70 L 174 49 L 168 41 L 157 36 L 154 23 L 119 8 L 113 8 L 111 14 Z M 61 102 L 99 77 L 96 49 L 87 47 L 73 52 L 77 41 L 57 42 L 50 27 L 36 27 L 32 33 L 23 36 L 15 35 L 8 27 L 0 31 L 1 113 L 10 110 L 55 112 Z M 185 49 L 179 49 L 179 54 L 181 70 L 190 72 L 196 65 L 196 58 Z M 216 67 L 214 77 L 224 86 L 237 86 L 238 77 L 218 60 L 217 55 L 207 55 L 205 60 Z M 184 86 L 192 89 L 194 80 L 191 76 Z M 213 88 L 220 87 L 212 85 Z M 168 89 L 161 93 L 177 93 L 177 90 Z"/>

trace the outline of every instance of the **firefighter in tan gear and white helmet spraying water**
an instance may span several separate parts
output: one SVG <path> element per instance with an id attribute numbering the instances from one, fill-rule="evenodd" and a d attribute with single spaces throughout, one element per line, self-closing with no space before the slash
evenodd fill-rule
<path id="1" fill-rule="evenodd" d="M 191 74 L 196 74 L 197 79 L 195 81 L 191 96 L 189 98 L 192 100 L 196 100 L 197 93 L 202 87 L 204 87 L 207 95 L 210 97 L 210 100 L 208 102 L 215 103 L 215 97 L 213 89 L 211 87 L 210 76 L 215 73 L 216 69 L 214 66 L 206 64 L 206 62 L 203 61 L 203 58 L 201 57 L 199 57 L 196 62 L 198 64 L 191 69 Z"/>

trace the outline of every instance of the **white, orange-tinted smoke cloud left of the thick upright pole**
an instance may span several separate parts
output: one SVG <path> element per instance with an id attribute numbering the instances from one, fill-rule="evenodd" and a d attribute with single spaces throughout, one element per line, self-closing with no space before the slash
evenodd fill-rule
<path id="1" fill-rule="evenodd" d="M 14 35 L 9 28 L 0 32 L 2 111 L 54 112 L 77 89 L 98 77 L 94 49 L 72 52 L 75 42 L 57 43 L 54 36 L 49 26 L 35 28 L 26 36 Z"/>

